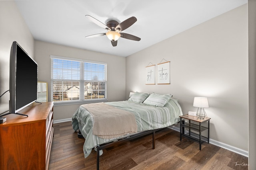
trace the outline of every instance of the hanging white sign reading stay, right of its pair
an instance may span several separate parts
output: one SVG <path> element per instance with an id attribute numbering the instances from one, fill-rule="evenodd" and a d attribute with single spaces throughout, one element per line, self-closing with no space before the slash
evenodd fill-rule
<path id="1" fill-rule="evenodd" d="M 170 84 L 170 61 L 157 64 L 157 84 Z"/>

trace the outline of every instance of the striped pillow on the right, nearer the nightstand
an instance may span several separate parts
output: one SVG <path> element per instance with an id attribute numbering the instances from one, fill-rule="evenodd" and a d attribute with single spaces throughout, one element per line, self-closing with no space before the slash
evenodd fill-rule
<path id="1" fill-rule="evenodd" d="M 151 106 L 164 107 L 164 105 L 169 102 L 171 97 L 171 94 L 160 95 L 152 93 L 143 103 Z"/>

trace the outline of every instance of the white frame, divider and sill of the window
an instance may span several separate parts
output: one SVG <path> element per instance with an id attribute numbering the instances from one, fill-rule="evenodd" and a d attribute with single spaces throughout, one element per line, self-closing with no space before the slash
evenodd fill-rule
<path id="1" fill-rule="evenodd" d="M 74 59 L 68 57 L 60 57 L 55 55 L 50 55 L 51 59 L 51 101 L 53 101 L 53 81 L 71 81 L 67 79 L 54 79 L 53 78 L 53 68 L 52 68 L 52 59 L 62 59 L 68 61 L 78 61 L 80 62 L 80 79 L 79 80 L 72 80 L 72 81 L 79 81 L 80 82 L 80 98 L 79 100 L 68 100 L 68 101 L 54 101 L 54 106 L 61 106 L 61 105 L 70 105 L 70 104 L 87 104 L 87 103 L 97 103 L 97 102 L 107 102 L 107 64 L 97 61 L 88 61 L 82 59 Z M 84 80 L 84 63 L 93 63 L 93 64 L 104 64 L 105 65 L 105 91 L 104 96 L 105 98 L 98 98 L 98 99 L 84 99 L 84 82 L 92 81 L 92 80 Z M 102 82 L 102 81 L 101 81 Z"/>

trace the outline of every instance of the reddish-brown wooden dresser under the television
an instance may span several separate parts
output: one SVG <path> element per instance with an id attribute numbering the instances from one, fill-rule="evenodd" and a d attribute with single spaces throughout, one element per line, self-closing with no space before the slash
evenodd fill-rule
<path id="1" fill-rule="evenodd" d="M 53 137 L 53 102 L 30 104 L 0 124 L 0 170 L 47 170 Z"/>

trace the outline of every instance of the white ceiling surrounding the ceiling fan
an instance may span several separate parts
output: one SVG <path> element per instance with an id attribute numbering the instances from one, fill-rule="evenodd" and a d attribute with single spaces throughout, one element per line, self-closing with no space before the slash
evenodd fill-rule
<path id="1" fill-rule="evenodd" d="M 246 4 L 248 0 L 17 0 L 34 39 L 127 57 L 186 29 Z M 118 39 L 112 47 L 106 36 L 85 38 L 106 30 L 88 20 L 137 21 L 124 33 L 140 41 Z"/>

